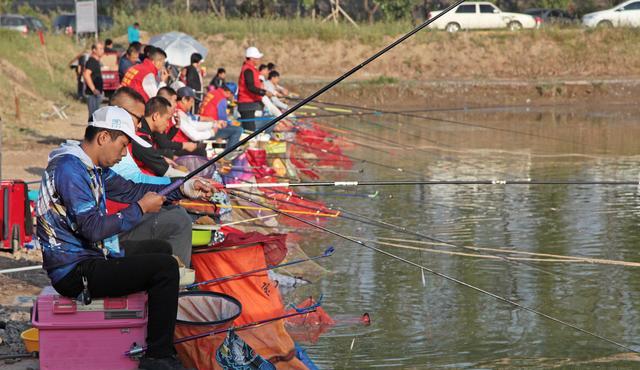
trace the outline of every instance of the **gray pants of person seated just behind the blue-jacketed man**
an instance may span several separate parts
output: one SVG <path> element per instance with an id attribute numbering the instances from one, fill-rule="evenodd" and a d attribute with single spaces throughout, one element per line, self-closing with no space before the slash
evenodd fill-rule
<path id="1" fill-rule="evenodd" d="M 191 264 L 191 216 L 179 206 L 164 206 L 158 213 L 146 213 L 138 226 L 119 235 L 120 240 L 160 239 L 169 242 L 173 254 Z"/>

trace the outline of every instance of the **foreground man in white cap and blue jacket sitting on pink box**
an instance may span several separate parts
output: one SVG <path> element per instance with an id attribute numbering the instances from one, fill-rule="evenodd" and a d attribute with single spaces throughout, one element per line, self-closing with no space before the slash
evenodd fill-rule
<path id="1" fill-rule="evenodd" d="M 158 192 L 167 185 L 125 180 L 110 167 L 125 156 L 130 140 L 149 146 L 135 134 L 127 111 L 105 107 L 94 112 L 81 143 L 69 141 L 51 152 L 36 211 L 43 267 L 58 293 L 85 303 L 146 291 L 149 349 L 140 369 L 183 370 L 173 348 L 179 273 L 171 246 L 162 240 L 121 243 L 118 234 L 166 200 L 208 197 L 212 187 L 192 179 L 165 197 Z M 130 205 L 108 214 L 107 199 Z"/>

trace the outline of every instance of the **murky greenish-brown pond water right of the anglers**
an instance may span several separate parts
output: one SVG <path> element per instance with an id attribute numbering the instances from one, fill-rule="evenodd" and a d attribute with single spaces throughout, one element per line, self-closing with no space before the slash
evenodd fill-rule
<path id="1" fill-rule="evenodd" d="M 334 127 L 366 133 L 369 139 L 359 133 L 349 137 L 378 148 L 358 146 L 348 154 L 405 170 L 356 163 L 363 173 L 339 178 L 640 179 L 640 108 L 635 106 L 413 114 L 435 120 L 387 115 L 325 119 Z M 395 149 L 393 142 L 405 147 Z M 335 178 L 326 173 L 323 179 Z M 637 186 L 385 186 L 357 192 L 376 190 L 373 199 L 344 194 L 318 199 L 456 245 L 640 261 Z M 332 220 L 327 227 L 358 239 L 428 249 L 371 243 L 640 350 L 638 267 L 442 254 L 434 250 L 476 252 L 356 221 Z M 330 314 L 368 312 L 372 325 L 336 328 L 306 344 L 322 368 L 640 367 L 640 357 L 629 351 L 441 277 L 425 273 L 423 280 L 420 269 L 354 243 L 320 231 L 309 231 L 303 243 L 310 255 L 329 245 L 337 252 L 321 264 L 332 274 L 289 298 L 322 293 Z"/>

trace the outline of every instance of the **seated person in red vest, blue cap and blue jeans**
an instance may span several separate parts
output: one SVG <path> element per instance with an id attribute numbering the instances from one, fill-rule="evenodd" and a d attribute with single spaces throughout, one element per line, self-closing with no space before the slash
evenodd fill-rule
<path id="1" fill-rule="evenodd" d="M 215 122 L 214 127 L 217 127 L 217 131 L 213 138 L 227 140 L 225 148 L 240 141 L 240 137 L 244 132 L 242 127 L 233 126 L 227 116 L 227 104 L 232 96 L 231 89 L 224 85 L 219 89 L 209 91 L 205 95 L 200 108 L 201 117 L 209 117 Z"/>

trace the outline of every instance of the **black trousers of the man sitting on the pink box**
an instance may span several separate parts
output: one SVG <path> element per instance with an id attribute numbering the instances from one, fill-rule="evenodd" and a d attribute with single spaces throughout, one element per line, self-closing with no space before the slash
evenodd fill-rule
<path id="1" fill-rule="evenodd" d="M 120 246 L 125 250 L 125 257 L 83 261 L 53 287 L 64 296 L 75 298 L 82 292 L 84 275 L 92 298 L 146 291 L 149 295 L 146 356 L 173 355 L 180 274 L 178 263 L 171 256 L 171 244 L 163 240 L 142 240 L 124 241 Z"/>

